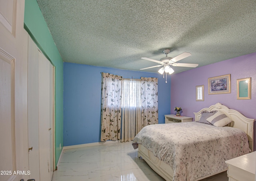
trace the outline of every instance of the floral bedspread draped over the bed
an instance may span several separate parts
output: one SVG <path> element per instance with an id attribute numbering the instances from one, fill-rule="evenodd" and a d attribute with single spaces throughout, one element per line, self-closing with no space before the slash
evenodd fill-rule
<path id="1" fill-rule="evenodd" d="M 249 153 L 246 133 L 197 122 L 148 125 L 134 138 L 170 165 L 173 181 L 194 181 L 227 169 L 226 160 Z"/>

